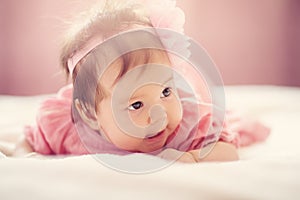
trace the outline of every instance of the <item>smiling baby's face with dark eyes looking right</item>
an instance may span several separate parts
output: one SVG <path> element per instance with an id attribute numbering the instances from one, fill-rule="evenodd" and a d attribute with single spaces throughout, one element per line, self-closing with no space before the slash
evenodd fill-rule
<path id="1" fill-rule="evenodd" d="M 154 59 L 154 58 L 153 58 Z M 158 61 L 151 60 L 152 63 L 159 63 L 164 66 L 170 66 L 167 60 L 159 59 Z M 135 63 L 141 65 L 143 63 Z M 172 134 L 178 127 L 182 119 L 181 103 L 178 99 L 176 88 L 173 87 L 173 74 L 172 70 L 161 70 L 161 73 L 156 74 L 157 79 L 161 80 L 159 83 L 148 83 L 141 86 L 136 85 L 138 81 L 134 81 L 134 77 L 130 77 L 126 82 L 128 88 L 136 88 L 133 92 L 122 90 L 120 98 L 113 101 L 113 91 L 118 85 L 115 83 L 118 72 L 122 63 L 114 63 L 111 65 L 102 75 L 100 84 L 105 88 L 107 95 L 98 104 L 97 120 L 100 126 L 100 131 L 104 136 L 115 146 L 120 149 L 135 151 L 135 152 L 152 152 L 162 148 L 169 139 L 172 138 Z M 136 66 L 136 65 L 135 65 Z M 130 66 L 129 71 L 134 69 L 135 66 Z M 166 68 L 166 67 L 165 67 Z M 124 75 L 126 76 L 126 74 Z M 123 77 L 124 77 L 123 76 Z M 148 70 L 139 73 L 136 79 L 149 78 Z M 122 77 L 122 78 L 123 78 Z M 125 87 L 127 88 L 127 86 Z M 123 93 L 123 94 L 122 94 Z M 122 96 L 128 96 L 128 101 L 122 102 Z M 119 101 L 120 99 L 120 101 Z M 126 98 L 125 98 L 126 99 Z M 113 103 L 112 103 L 113 102 Z M 125 124 L 118 122 L 114 116 L 115 107 L 120 107 L 120 112 L 126 112 L 127 117 L 130 119 Z M 153 108 L 156 107 L 160 112 L 153 114 Z M 153 110 L 151 110 L 153 109 Z M 118 113 L 115 113 L 117 115 Z M 154 118 L 161 120 L 158 125 L 154 124 Z M 133 132 L 129 133 L 122 126 L 128 125 L 136 126 Z M 143 129 L 144 127 L 144 129 Z M 147 133 L 152 128 L 152 132 Z M 141 129 L 142 128 L 142 129 Z M 138 131 L 137 131 L 138 130 Z M 153 131 L 154 130 L 154 131 Z"/>

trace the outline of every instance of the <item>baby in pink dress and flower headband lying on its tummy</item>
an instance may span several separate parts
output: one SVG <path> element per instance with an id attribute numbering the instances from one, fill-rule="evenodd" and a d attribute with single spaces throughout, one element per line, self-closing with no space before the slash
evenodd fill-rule
<path id="1" fill-rule="evenodd" d="M 211 102 L 198 97 L 207 95 L 197 90 L 205 88 L 199 86 L 203 81 L 181 88 L 180 59 L 164 48 L 156 28 L 182 32 L 183 23 L 175 1 L 139 0 L 106 1 L 77 24 L 61 53 L 73 84 L 45 101 L 37 126 L 27 127 L 33 151 L 230 161 L 238 159 L 239 145 L 264 140 L 269 131 L 259 123 L 243 126 L 240 119 L 215 117 Z"/>

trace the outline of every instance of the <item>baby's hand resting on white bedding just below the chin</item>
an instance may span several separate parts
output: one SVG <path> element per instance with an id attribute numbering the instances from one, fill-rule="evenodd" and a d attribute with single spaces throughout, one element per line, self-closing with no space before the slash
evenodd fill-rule
<path id="1" fill-rule="evenodd" d="M 182 152 L 178 151 L 176 149 L 165 149 L 160 154 L 158 154 L 159 157 L 166 159 L 166 160 L 174 160 L 184 163 L 196 163 L 197 161 L 194 159 L 193 154 L 189 152 Z"/>

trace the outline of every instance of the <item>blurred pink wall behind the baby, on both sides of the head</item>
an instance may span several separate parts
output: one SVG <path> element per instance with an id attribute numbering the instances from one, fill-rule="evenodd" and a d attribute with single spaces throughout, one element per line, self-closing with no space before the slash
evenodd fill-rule
<path id="1" fill-rule="evenodd" d="M 96 0 L 0 0 L 0 94 L 55 92 L 64 21 Z M 300 86 L 300 1 L 178 0 L 225 84 Z"/>

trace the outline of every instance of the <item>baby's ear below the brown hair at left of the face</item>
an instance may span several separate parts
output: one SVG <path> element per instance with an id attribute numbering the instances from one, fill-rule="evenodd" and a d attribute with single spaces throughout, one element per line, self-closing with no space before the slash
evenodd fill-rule
<path id="1" fill-rule="evenodd" d="M 77 112 L 79 113 L 81 119 L 89 125 L 90 128 L 94 130 L 99 130 L 99 125 L 97 122 L 97 115 L 95 111 L 92 111 L 89 107 L 86 107 L 82 102 L 79 101 L 79 99 L 75 99 L 74 101 L 75 108 Z"/>

